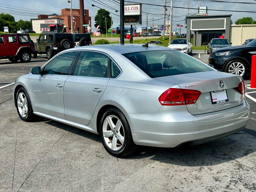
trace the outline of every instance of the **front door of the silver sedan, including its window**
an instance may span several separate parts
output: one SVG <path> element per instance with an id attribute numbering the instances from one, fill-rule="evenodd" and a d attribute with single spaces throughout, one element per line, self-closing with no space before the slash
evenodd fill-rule
<path id="1" fill-rule="evenodd" d="M 63 89 L 78 52 L 63 53 L 49 61 L 32 82 L 34 111 L 65 119 Z"/>

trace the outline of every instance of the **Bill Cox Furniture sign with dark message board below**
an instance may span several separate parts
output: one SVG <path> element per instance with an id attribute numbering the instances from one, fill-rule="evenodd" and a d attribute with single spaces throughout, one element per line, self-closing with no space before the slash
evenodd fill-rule
<path id="1" fill-rule="evenodd" d="M 142 4 L 124 5 L 124 25 L 142 24 Z"/>

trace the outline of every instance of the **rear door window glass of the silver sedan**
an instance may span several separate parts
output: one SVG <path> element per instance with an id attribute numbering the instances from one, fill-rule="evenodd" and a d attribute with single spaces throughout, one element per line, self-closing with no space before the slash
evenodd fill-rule
<path id="1" fill-rule="evenodd" d="M 82 52 L 75 76 L 108 77 L 108 56 L 98 52 Z"/>

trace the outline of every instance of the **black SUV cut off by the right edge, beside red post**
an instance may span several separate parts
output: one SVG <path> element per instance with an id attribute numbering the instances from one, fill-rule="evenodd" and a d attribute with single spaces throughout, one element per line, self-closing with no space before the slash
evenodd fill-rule
<path id="1" fill-rule="evenodd" d="M 256 39 L 247 45 L 229 46 L 212 51 L 209 65 L 217 70 L 244 77 L 251 72 L 252 55 L 256 52 Z"/>

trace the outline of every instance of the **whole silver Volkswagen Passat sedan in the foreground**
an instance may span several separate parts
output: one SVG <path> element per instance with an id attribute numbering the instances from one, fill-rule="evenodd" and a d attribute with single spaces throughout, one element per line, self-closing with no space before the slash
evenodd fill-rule
<path id="1" fill-rule="evenodd" d="M 137 145 L 176 147 L 242 130 L 241 76 L 219 72 L 162 46 L 100 45 L 60 52 L 16 79 L 23 121 L 46 117 L 100 134 L 113 156 Z"/>

